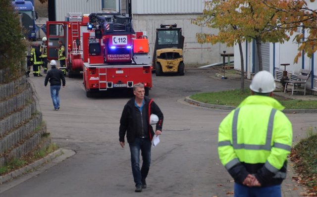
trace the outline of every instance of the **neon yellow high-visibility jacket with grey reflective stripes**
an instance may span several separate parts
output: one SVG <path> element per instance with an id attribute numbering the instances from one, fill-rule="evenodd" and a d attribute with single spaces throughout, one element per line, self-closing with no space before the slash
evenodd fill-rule
<path id="1" fill-rule="evenodd" d="M 235 177 L 237 174 L 256 174 L 262 186 L 279 184 L 286 177 L 292 125 L 282 109 L 273 98 L 250 96 L 221 122 L 219 158 L 236 182 L 242 183 L 245 178 Z M 247 172 L 232 170 L 241 164 Z M 274 178 L 281 180 L 275 182 Z"/>

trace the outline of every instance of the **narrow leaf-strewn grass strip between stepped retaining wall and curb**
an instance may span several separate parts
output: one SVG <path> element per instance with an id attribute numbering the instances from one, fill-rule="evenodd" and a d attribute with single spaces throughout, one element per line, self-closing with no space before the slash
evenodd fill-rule
<path id="1" fill-rule="evenodd" d="M 30 151 L 19 159 L 12 159 L 4 166 L 0 167 L 0 176 L 22 168 L 30 163 L 33 163 L 34 161 L 39 160 L 52 153 L 56 149 L 58 149 L 58 146 L 54 143 L 51 143 L 47 148 L 37 148 L 36 150 Z"/>

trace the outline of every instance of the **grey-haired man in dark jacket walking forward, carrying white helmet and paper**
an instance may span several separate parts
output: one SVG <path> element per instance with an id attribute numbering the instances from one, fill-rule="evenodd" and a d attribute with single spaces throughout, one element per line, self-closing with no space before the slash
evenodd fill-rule
<path id="1" fill-rule="evenodd" d="M 124 136 L 127 134 L 135 192 L 142 192 L 142 189 L 147 188 L 145 180 L 150 169 L 152 138 L 154 135 L 161 134 L 163 113 L 153 99 L 144 96 L 145 90 L 142 83 L 133 86 L 133 94 L 135 97 L 126 103 L 122 111 L 119 141 L 121 147 L 124 148 Z M 150 125 L 151 114 L 159 117 L 155 132 Z M 140 150 L 143 160 L 141 170 L 139 166 Z"/>

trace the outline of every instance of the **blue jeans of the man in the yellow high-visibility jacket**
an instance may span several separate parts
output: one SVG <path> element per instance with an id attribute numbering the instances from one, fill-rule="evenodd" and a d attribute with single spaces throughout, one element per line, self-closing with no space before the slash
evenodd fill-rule
<path id="1" fill-rule="evenodd" d="M 281 186 L 248 187 L 235 183 L 234 197 L 282 197 Z"/>

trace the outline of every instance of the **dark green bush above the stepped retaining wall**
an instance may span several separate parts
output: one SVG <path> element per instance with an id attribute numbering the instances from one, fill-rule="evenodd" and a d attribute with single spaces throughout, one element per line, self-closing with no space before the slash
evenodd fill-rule
<path id="1" fill-rule="evenodd" d="M 26 41 L 11 0 L 0 0 L 0 7 L 0 69 L 7 69 L 8 82 L 23 75 Z"/>

